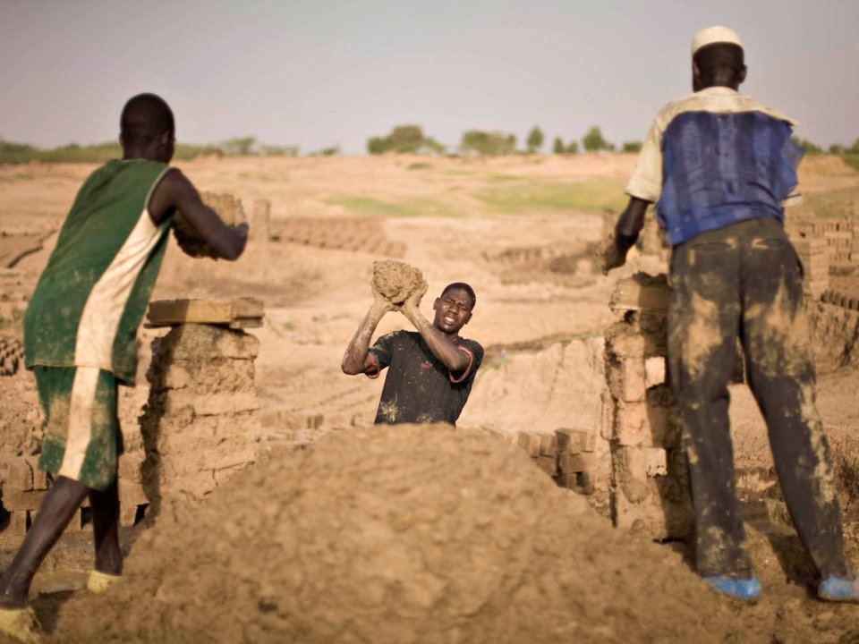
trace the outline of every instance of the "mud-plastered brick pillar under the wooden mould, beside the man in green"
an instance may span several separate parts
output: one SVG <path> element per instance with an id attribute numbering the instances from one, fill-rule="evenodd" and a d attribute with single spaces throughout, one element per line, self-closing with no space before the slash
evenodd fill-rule
<path id="1" fill-rule="evenodd" d="M 255 336 L 209 324 L 174 326 L 153 341 L 140 430 L 143 486 L 155 513 L 208 495 L 256 462 L 258 352 Z"/>

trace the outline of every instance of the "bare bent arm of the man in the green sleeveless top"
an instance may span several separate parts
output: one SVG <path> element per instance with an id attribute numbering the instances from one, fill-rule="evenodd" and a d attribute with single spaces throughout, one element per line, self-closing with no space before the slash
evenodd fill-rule
<path id="1" fill-rule="evenodd" d="M 149 199 L 149 214 L 160 224 L 176 210 L 182 210 L 208 247 L 219 258 L 238 259 L 248 242 L 248 224 L 225 225 L 214 210 L 200 199 L 200 193 L 179 170 L 171 169 L 161 178 Z"/>

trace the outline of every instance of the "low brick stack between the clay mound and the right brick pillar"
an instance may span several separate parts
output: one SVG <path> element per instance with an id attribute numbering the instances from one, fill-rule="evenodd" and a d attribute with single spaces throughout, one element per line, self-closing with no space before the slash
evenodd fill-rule
<path id="1" fill-rule="evenodd" d="M 580 429 L 558 428 L 552 432 L 520 431 L 515 442 L 557 485 L 591 494 L 596 438 L 596 434 Z"/>

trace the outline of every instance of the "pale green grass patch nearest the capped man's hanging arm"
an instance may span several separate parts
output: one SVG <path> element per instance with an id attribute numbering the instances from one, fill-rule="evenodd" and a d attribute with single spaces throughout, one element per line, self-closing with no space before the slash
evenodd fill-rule
<path id="1" fill-rule="evenodd" d="M 506 185 L 477 195 L 489 213 L 521 214 L 530 210 L 620 211 L 627 197 L 624 183 L 600 180 L 586 183 Z"/>

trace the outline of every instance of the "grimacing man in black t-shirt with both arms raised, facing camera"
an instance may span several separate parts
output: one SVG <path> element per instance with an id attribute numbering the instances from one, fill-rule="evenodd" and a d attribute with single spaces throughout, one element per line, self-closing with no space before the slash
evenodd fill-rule
<path id="1" fill-rule="evenodd" d="M 477 297 L 468 284 L 448 284 L 432 305 L 436 313 L 430 324 L 419 308 L 426 292 L 424 282 L 397 306 L 374 285 L 373 304 L 343 356 L 343 371 L 350 376 L 362 373 L 377 378 L 382 369 L 389 368 L 378 402 L 377 424 L 455 425 L 472 391 L 483 347 L 460 337 L 459 331 L 472 318 Z M 379 320 L 391 310 L 401 311 L 417 332 L 383 335 L 370 348 Z"/>

